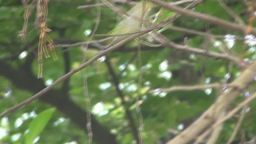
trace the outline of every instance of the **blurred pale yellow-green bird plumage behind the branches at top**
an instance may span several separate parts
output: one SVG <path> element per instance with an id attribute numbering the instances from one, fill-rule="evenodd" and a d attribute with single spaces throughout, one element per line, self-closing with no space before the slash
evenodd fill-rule
<path id="1" fill-rule="evenodd" d="M 144 3 L 144 4 L 143 4 Z M 142 16 L 143 19 L 148 15 L 150 9 L 154 6 L 152 2 L 141 1 L 138 2 L 134 7 L 132 7 L 128 12 L 126 18 L 121 20 L 116 27 L 108 32 L 109 35 L 127 34 L 122 36 L 114 36 L 108 41 L 108 44 L 116 44 L 125 38 L 131 36 L 131 33 L 136 33 L 140 31 Z M 144 8 L 143 8 L 144 7 Z M 142 15 L 143 14 L 143 15 Z"/>

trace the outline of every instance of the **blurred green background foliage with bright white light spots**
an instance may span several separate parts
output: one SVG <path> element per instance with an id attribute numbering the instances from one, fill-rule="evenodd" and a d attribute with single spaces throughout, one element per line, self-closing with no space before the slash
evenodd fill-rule
<path id="1" fill-rule="evenodd" d="M 173 2 L 176 0 L 172 0 Z M 227 1 L 228 2 L 228 1 Z M 90 35 L 85 35 L 86 30 L 94 29 L 96 24 L 96 8 L 77 9 L 78 6 L 85 4 L 94 4 L 92 0 L 50 0 L 49 12 L 47 19 L 48 28 L 52 29 L 50 37 L 56 44 L 74 43 L 89 40 Z M 247 7 L 241 0 L 233 0 L 227 3 L 228 7 L 241 16 L 246 22 L 248 15 Z M 128 6 L 120 4 L 125 9 Z M 206 0 L 203 4 L 196 6 L 195 11 L 211 14 L 218 18 L 233 21 L 233 19 L 218 4 L 217 0 Z M 10 66 L 20 69 L 22 64 L 27 60 L 28 55 L 36 52 L 38 44 L 38 32 L 34 27 L 34 14 L 28 25 L 28 41 L 31 48 L 26 49 L 18 32 L 23 26 L 22 3 L 17 0 L 0 0 L 0 60 L 4 60 Z M 116 24 L 118 18 L 112 10 L 106 6 L 101 7 L 101 17 L 96 34 L 106 34 Z M 194 30 L 206 31 L 207 23 L 181 16 L 174 22 L 175 26 L 190 28 Z M 217 26 L 209 26 L 208 32 L 213 34 L 236 34 L 238 32 L 223 29 Z M 207 40 L 204 36 L 189 35 L 183 32 L 165 30 L 163 34 L 176 43 L 182 44 L 184 37 L 188 36 L 188 44 L 196 48 L 202 48 L 202 44 Z M 243 36 L 241 34 L 240 36 Z M 95 39 L 100 39 L 95 37 Z M 220 52 L 216 43 L 228 44 L 225 40 L 215 40 L 215 44 L 206 45 L 208 50 Z M 242 41 L 234 41 L 230 50 L 242 57 Z M 130 42 L 124 46 L 126 49 L 137 48 L 137 42 Z M 142 46 L 147 48 L 147 46 Z M 245 53 L 248 60 L 255 59 L 254 45 L 247 46 L 248 52 Z M 60 76 L 65 74 L 64 49 L 56 48 L 59 60 L 54 61 L 52 58 L 44 60 L 43 80 L 46 86 Z M 22 52 L 25 54 L 22 57 Z M 74 70 L 84 61 L 86 53 L 87 59 L 92 58 L 100 50 L 95 48 L 84 52 L 81 47 L 74 46 L 67 50 L 70 56 L 70 67 Z M 28 54 L 28 55 L 26 55 Z M 182 57 L 180 57 L 182 55 Z M 135 58 L 134 58 L 135 56 Z M 132 58 L 134 58 L 132 60 Z M 208 106 L 210 106 L 219 94 L 217 90 L 191 91 L 191 92 L 156 92 L 148 94 L 149 89 L 166 88 L 177 85 L 188 84 L 208 84 L 220 82 L 226 84 L 240 75 L 240 70 L 226 60 L 216 60 L 214 58 L 203 57 L 200 55 L 190 54 L 187 52 L 177 53 L 172 48 L 159 48 L 159 50 L 142 51 L 142 71 L 138 66 L 137 50 L 134 52 L 115 51 L 108 54 L 108 59 L 120 80 L 120 88 L 124 93 L 128 109 L 132 112 L 134 120 L 138 124 L 138 114 L 135 109 L 135 98 L 138 96 L 139 81 L 138 77 L 143 72 L 142 92 L 140 105 L 144 120 L 144 144 L 161 144 L 168 141 L 174 135 L 172 130 L 180 131 L 193 122 Z M 38 72 L 38 62 L 32 63 L 32 74 L 35 76 Z M 0 68 L 0 70 L 3 68 Z M 29 71 L 29 69 L 28 69 Z M 185 74 L 188 72 L 190 74 Z M 70 98 L 81 108 L 86 110 L 86 99 L 83 83 L 84 71 L 80 71 L 70 78 L 69 94 Z M 185 75 L 184 75 L 185 74 Z M 88 77 L 88 92 L 91 98 L 92 114 L 111 133 L 117 136 L 120 144 L 132 144 L 134 138 L 128 126 L 124 107 L 120 97 L 116 94 L 116 88 L 112 84 L 112 76 L 108 72 L 108 67 L 104 62 L 98 60 L 86 68 Z M 230 77 L 229 77 L 230 76 Z M 193 80 L 186 82 L 185 79 L 193 77 Z M 59 84 L 54 89 L 59 89 Z M 248 91 L 249 92 L 249 91 Z M 33 93 L 28 90 L 22 90 L 15 87 L 4 76 L 0 76 L 0 112 L 20 103 Z M 54 97 L 54 96 L 52 96 Z M 244 100 L 243 96 L 236 103 Z M 232 107 L 236 106 L 236 103 Z M 246 140 L 255 136 L 256 120 L 254 113 L 255 102 L 252 102 L 246 118 L 240 128 L 235 140 L 240 141 L 244 136 Z M 8 114 L 0 120 L 0 142 L 8 144 L 23 144 L 26 134 L 30 129 L 30 124 L 34 123 L 36 116 L 44 110 L 51 108 L 51 105 L 35 101 Z M 51 110 L 51 109 L 50 109 Z M 39 116 L 39 115 L 38 115 Z M 225 143 L 232 134 L 238 118 L 228 120 L 220 135 L 218 144 Z M 38 124 L 40 124 L 39 122 Z M 39 134 L 40 132 L 38 132 Z M 56 110 L 52 114 L 48 124 L 39 134 L 38 144 L 84 144 L 87 141 L 87 134 L 79 127 L 75 126 L 68 117 Z M 69 142 L 69 143 L 68 143 Z M 73 143 L 71 143 L 73 142 Z"/>

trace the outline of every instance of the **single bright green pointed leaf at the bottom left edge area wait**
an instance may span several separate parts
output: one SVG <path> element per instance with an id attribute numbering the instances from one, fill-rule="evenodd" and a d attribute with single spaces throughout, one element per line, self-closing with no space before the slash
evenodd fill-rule
<path id="1" fill-rule="evenodd" d="M 26 144 L 32 144 L 34 138 L 36 138 L 44 130 L 54 111 L 55 108 L 49 108 L 48 110 L 41 112 L 36 118 L 34 118 L 28 128 L 29 132 L 26 135 Z"/>

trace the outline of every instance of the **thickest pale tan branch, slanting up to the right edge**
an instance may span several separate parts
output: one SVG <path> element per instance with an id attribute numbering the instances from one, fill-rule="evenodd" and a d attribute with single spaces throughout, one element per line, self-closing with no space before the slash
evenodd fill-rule
<path id="1" fill-rule="evenodd" d="M 224 92 L 222 92 L 222 94 L 220 94 L 216 102 L 212 104 L 212 106 L 210 106 L 210 108 L 208 108 L 208 110 L 206 110 L 204 114 L 202 114 L 202 116 L 200 116 L 193 124 L 191 124 L 188 128 L 186 128 L 186 130 L 181 132 L 178 136 L 176 136 L 175 138 L 167 142 L 167 144 L 186 144 L 187 142 L 196 138 L 198 134 L 200 134 L 203 130 L 205 130 L 205 128 L 215 123 L 216 118 L 218 118 L 220 114 L 223 114 L 226 108 L 228 108 L 228 106 L 238 97 L 238 95 L 240 94 L 240 92 L 242 92 L 242 90 L 244 90 L 245 88 L 248 88 L 248 86 L 254 83 L 255 76 L 256 76 L 256 62 L 253 62 L 241 74 L 240 77 L 238 77 L 236 80 L 234 80 L 234 82 L 231 83 L 232 87 L 227 88 L 226 90 L 224 90 Z M 249 100 L 249 99 L 252 100 L 255 97 L 256 97 L 256 94 L 254 94 L 254 96 L 250 96 L 246 100 Z M 242 105 L 243 107 L 244 103 L 248 103 L 248 102 L 242 102 L 238 106 L 240 107 Z M 239 110 L 240 108 L 238 108 L 238 106 L 236 107 L 236 109 Z M 237 111 L 232 110 L 232 112 L 237 112 Z M 227 118 L 227 116 L 230 116 L 230 114 L 231 112 L 227 114 L 224 118 Z M 218 122 L 218 124 L 220 123 L 222 122 Z M 216 123 L 213 126 L 216 126 Z M 209 128 L 206 131 L 211 132 L 211 130 Z"/>

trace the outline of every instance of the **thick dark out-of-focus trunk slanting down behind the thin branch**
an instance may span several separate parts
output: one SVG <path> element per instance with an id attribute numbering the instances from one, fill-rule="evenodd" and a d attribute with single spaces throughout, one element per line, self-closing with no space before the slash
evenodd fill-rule
<path id="1" fill-rule="evenodd" d="M 0 61 L 0 76 L 4 76 L 10 80 L 16 88 L 27 90 L 33 94 L 45 88 L 44 81 L 34 76 L 31 64 L 35 56 L 31 53 L 26 57 L 26 61 L 20 68 L 15 68 L 7 61 Z M 42 97 L 38 98 L 42 102 L 46 102 L 62 112 L 67 118 L 72 120 L 78 128 L 86 132 L 86 111 L 74 103 L 68 94 L 63 93 L 62 89 L 48 90 Z M 4 110 L 4 109 L 3 109 Z M 1 110 L 1 111 L 3 111 Z M 110 133 L 110 130 L 100 124 L 94 116 L 92 116 L 93 140 L 97 144 L 118 144 L 116 136 Z"/>

